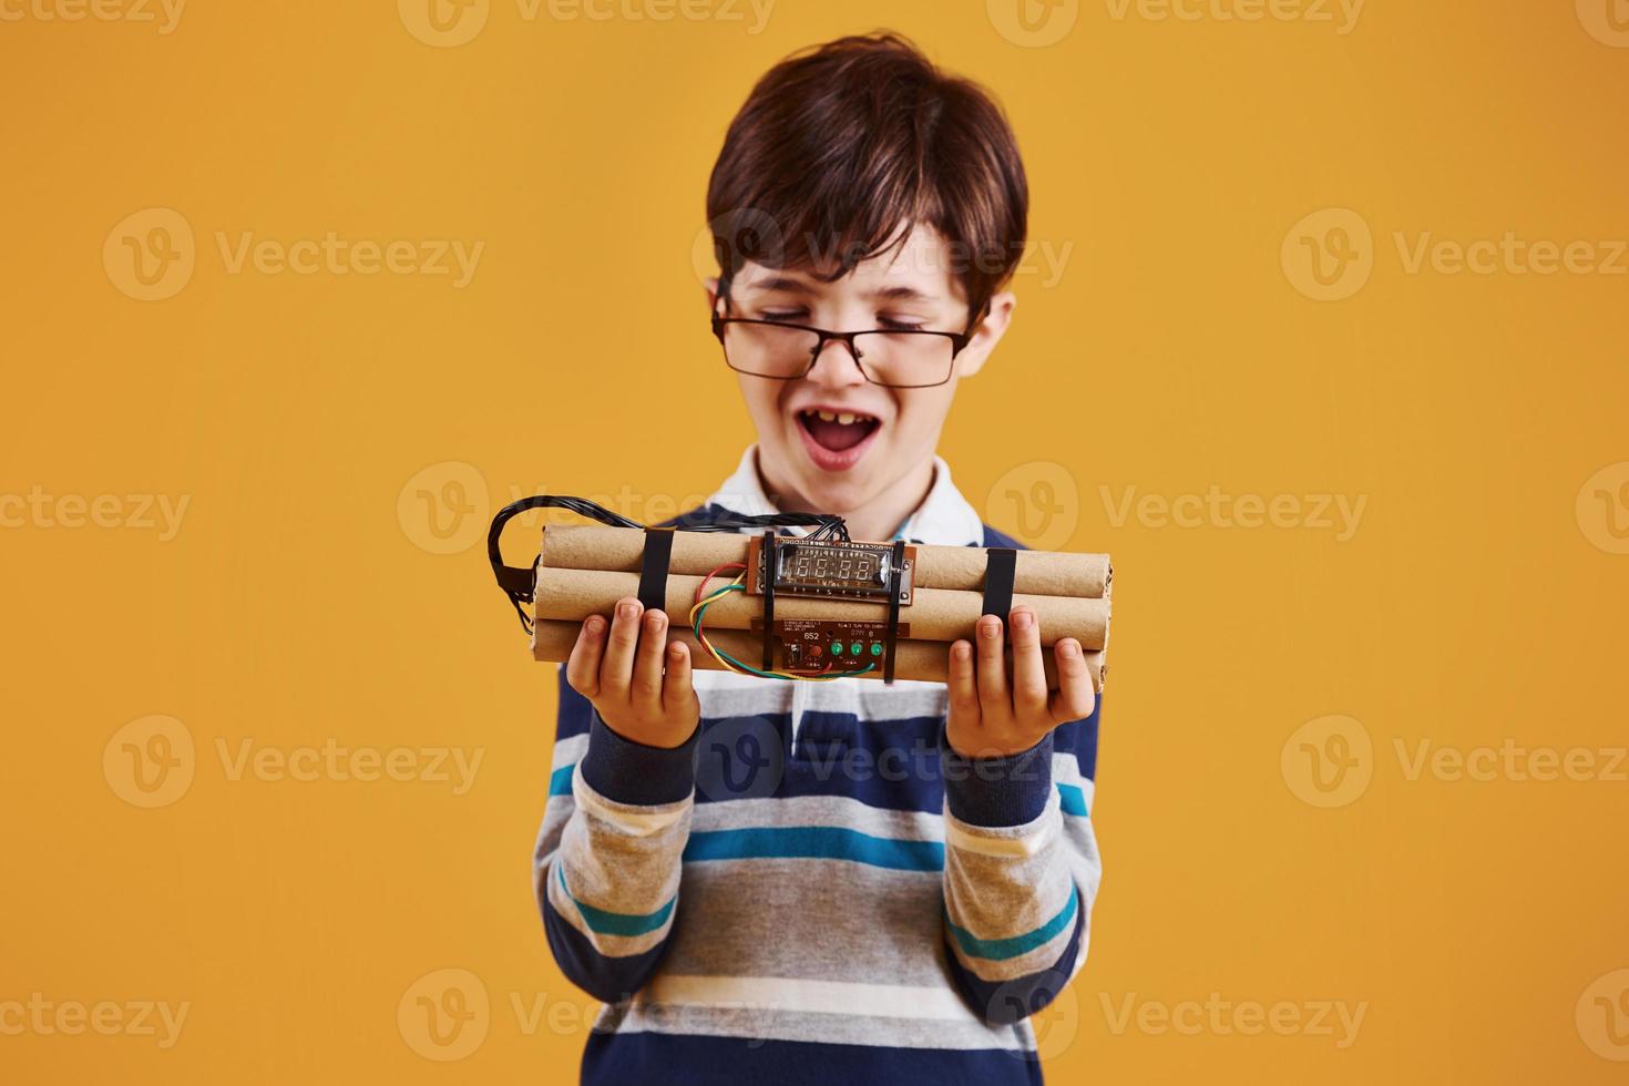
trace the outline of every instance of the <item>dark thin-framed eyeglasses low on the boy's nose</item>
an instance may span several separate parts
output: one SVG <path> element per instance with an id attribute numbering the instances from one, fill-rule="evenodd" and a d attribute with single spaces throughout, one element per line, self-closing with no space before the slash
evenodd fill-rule
<path id="1" fill-rule="evenodd" d="M 808 324 L 725 317 L 714 314 L 714 335 L 723 344 L 725 365 L 736 373 L 772 381 L 797 381 L 814 368 L 831 340 L 849 348 L 865 379 L 891 389 L 925 389 L 950 381 L 956 355 L 973 342 L 964 332 L 872 329 L 828 332 Z"/>

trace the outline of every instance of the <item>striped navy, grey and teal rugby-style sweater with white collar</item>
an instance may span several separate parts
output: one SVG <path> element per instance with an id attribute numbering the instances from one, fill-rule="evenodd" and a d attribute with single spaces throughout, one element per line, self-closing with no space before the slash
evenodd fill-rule
<path id="1" fill-rule="evenodd" d="M 679 526 L 772 511 L 754 454 Z M 898 536 L 1016 545 L 943 459 Z M 696 689 L 668 751 L 560 674 L 534 882 L 555 961 L 604 1001 L 582 1081 L 1039 1083 L 1026 1016 L 1080 970 L 1101 874 L 1098 713 L 969 760 L 943 684 Z"/>

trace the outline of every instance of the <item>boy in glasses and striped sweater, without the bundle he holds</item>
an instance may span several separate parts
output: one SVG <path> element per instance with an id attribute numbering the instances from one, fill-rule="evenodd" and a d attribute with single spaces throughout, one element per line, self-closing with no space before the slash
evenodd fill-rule
<path id="1" fill-rule="evenodd" d="M 731 124 L 707 212 L 757 443 L 679 526 L 798 510 L 1015 545 L 935 454 L 1025 241 L 984 91 L 893 36 L 793 55 Z M 583 1081 L 1038 1083 L 1026 1016 L 1080 969 L 1101 869 L 1080 645 L 1051 695 L 1025 609 L 956 642 L 946 684 L 793 682 L 692 672 L 668 622 L 624 599 L 562 669 L 534 869 L 555 959 L 606 1003 Z"/>

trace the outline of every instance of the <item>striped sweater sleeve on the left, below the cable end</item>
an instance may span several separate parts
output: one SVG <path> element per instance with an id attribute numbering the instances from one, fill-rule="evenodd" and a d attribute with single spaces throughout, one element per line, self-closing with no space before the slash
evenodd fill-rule
<path id="1" fill-rule="evenodd" d="M 577 987 L 621 1003 L 650 979 L 678 910 L 696 736 L 681 747 L 611 731 L 565 682 L 533 884 L 549 949 Z"/>

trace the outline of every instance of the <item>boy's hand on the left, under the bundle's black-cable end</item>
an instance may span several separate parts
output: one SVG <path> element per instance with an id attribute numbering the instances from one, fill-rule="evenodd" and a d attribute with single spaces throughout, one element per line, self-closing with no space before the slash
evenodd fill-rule
<path id="1" fill-rule="evenodd" d="M 619 599 L 613 615 L 609 628 L 601 615 L 583 622 L 565 681 L 624 739 L 684 746 L 702 716 L 691 685 L 691 650 L 683 642 L 666 645 L 668 615 L 647 612 L 632 596 Z"/>

